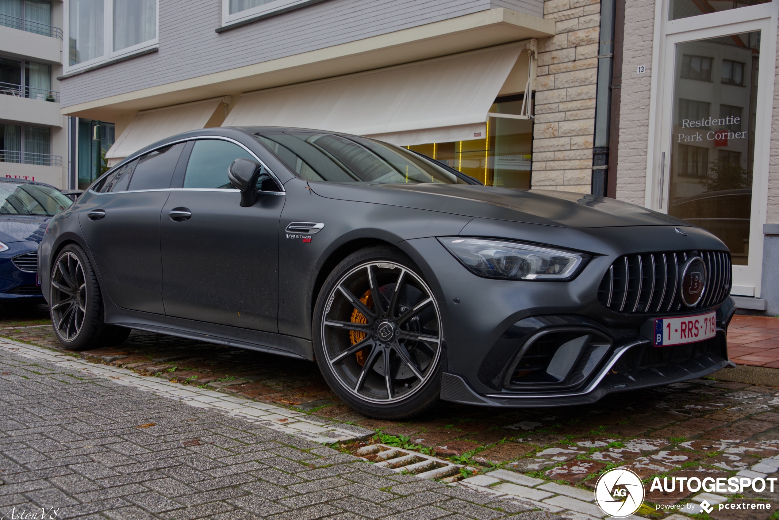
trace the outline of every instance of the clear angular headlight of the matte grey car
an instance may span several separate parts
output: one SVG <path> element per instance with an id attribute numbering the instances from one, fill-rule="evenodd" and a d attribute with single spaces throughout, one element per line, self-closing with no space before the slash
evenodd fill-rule
<path id="1" fill-rule="evenodd" d="M 573 276 L 589 255 L 485 238 L 441 237 L 455 258 L 487 278 L 562 280 Z"/>

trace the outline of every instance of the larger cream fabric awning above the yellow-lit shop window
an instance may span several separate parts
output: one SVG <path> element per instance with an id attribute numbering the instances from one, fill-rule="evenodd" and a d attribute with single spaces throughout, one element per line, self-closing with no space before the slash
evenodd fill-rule
<path id="1" fill-rule="evenodd" d="M 526 42 L 247 93 L 223 126 L 293 126 L 397 145 L 479 139 Z"/>

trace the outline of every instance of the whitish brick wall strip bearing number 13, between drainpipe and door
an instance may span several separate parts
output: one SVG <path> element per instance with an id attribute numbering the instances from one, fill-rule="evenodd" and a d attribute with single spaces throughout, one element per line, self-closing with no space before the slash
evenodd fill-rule
<path id="1" fill-rule="evenodd" d="M 644 205 L 647 182 L 647 138 L 654 37 L 654 2 L 625 2 L 622 51 L 622 102 L 619 115 L 617 199 Z M 647 72 L 636 74 L 638 65 Z"/>

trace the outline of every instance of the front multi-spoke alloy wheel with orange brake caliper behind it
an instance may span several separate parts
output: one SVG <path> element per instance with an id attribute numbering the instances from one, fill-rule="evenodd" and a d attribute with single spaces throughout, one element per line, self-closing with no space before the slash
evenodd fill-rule
<path id="1" fill-rule="evenodd" d="M 441 318 L 432 291 L 400 262 L 354 265 L 328 284 L 319 322 L 328 371 L 360 402 L 392 405 L 438 372 Z"/>

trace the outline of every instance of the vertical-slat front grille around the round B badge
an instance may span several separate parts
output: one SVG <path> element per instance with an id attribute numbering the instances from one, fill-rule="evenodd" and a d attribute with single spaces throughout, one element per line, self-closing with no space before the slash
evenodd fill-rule
<path id="1" fill-rule="evenodd" d="M 679 273 L 687 258 L 706 264 L 706 288 L 698 304 L 687 307 L 679 296 Z M 710 307 L 730 293 L 731 258 L 723 251 L 675 251 L 621 256 L 608 268 L 597 297 L 622 314 L 667 314 Z"/>

